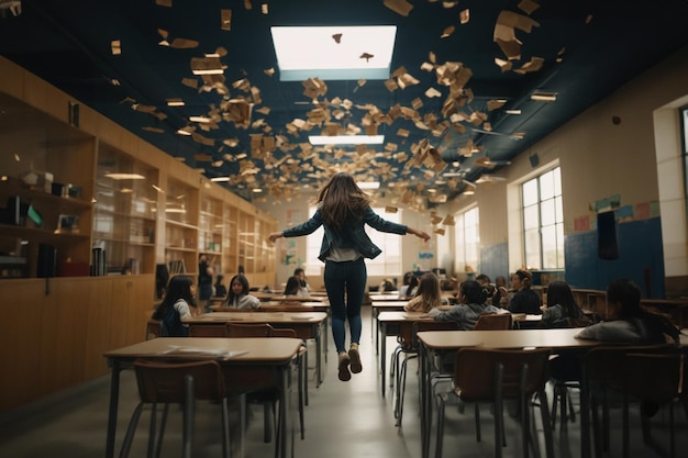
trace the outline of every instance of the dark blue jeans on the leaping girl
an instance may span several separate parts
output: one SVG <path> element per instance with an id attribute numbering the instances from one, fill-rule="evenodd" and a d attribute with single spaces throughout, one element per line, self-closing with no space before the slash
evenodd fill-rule
<path id="1" fill-rule="evenodd" d="M 332 337 L 337 353 L 346 351 L 346 321 L 351 343 L 360 342 L 360 304 L 368 271 L 363 258 L 346 262 L 325 261 L 325 289 L 332 312 Z"/>

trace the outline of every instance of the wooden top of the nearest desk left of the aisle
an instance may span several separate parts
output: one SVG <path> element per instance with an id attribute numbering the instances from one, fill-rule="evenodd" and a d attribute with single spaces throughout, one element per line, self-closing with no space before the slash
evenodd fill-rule
<path id="1" fill-rule="evenodd" d="M 158 337 L 104 354 L 109 359 L 180 358 L 249 361 L 291 361 L 302 340 L 291 337 Z"/>

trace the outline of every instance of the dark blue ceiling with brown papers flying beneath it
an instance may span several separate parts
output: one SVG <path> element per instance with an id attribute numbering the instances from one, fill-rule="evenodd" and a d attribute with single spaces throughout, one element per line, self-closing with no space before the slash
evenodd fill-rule
<path id="1" fill-rule="evenodd" d="M 222 185 L 246 200 L 289 199 L 334 170 L 380 180 L 409 206 L 452 200 L 688 43 L 686 0 L 23 0 L 18 15 L 11 3 L 0 0 L 1 55 L 208 178 L 229 177 Z M 387 5 L 402 3 L 408 15 Z M 495 41 L 504 20 L 499 30 L 520 46 Z M 389 24 L 389 81 L 324 80 L 315 94 L 279 81 L 270 26 Z M 192 59 L 219 48 L 224 74 L 195 76 Z M 534 91 L 557 99 L 532 101 Z M 308 146 L 309 134 L 358 127 L 385 134 L 385 145 Z"/>

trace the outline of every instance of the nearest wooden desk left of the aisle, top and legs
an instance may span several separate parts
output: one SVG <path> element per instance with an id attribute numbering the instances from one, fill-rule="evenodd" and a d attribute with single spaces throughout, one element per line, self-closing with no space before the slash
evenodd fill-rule
<path id="1" fill-rule="evenodd" d="M 301 339 L 284 337 L 262 338 L 212 338 L 212 337 L 160 337 L 145 340 L 129 347 L 119 348 L 104 354 L 111 367 L 110 407 L 108 413 L 108 436 L 106 440 L 106 458 L 114 456 L 116 418 L 120 398 L 120 372 L 131 367 L 136 358 L 146 359 L 213 359 L 229 370 L 242 373 L 262 375 L 255 377 L 228 377 L 228 387 L 236 391 L 251 391 L 257 386 L 275 387 L 279 390 L 280 427 L 277 435 L 280 440 L 280 457 L 287 457 L 289 431 L 289 371 L 291 361 L 298 357 Z M 176 349 L 176 350 L 175 350 Z"/>

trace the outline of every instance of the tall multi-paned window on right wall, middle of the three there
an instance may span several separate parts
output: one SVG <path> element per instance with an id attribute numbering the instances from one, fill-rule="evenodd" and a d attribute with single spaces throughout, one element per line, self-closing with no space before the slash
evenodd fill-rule
<path id="1" fill-rule="evenodd" d="M 529 269 L 564 268 L 561 168 L 521 185 L 523 249 Z"/>

